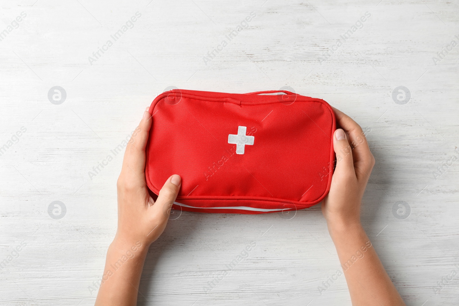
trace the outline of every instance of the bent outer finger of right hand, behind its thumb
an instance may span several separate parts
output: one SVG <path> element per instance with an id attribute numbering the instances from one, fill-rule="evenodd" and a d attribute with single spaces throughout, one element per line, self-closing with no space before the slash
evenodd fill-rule
<path id="1" fill-rule="evenodd" d="M 368 142 L 362 131 L 362 128 L 351 117 L 347 116 L 342 111 L 333 107 L 335 111 L 336 121 L 349 135 L 349 143 L 353 147 L 353 158 L 355 166 L 358 169 L 356 173 L 368 174 L 374 164 L 374 158 L 368 146 Z M 361 173 L 360 173 L 361 172 Z"/>

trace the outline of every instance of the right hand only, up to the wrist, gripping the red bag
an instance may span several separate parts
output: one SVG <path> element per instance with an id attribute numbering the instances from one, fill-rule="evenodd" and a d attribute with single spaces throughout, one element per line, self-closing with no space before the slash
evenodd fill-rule
<path id="1" fill-rule="evenodd" d="M 345 113 L 333 108 L 337 125 L 333 136 L 336 168 L 322 213 L 330 226 L 360 225 L 360 203 L 375 165 L 362 128 Z"/>

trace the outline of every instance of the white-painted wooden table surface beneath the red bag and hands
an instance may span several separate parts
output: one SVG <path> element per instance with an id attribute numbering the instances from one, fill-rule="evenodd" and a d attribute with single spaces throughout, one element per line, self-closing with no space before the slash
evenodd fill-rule
<path id="1" fill-rule="evenodd" d="M 362 221 L 387 272 L 407 305 L 458 305 L 459 3 L 378 1 L 3 0 L 0 305 L 94 304 L 122 155 L 88 172 L 169 86 L 290 86 L 353 117 L 376 159 Z M 351 305 L 344 277 L 319 292 L 337 269 L 320 206 L 184 212 L 152 245 L 138 304 Z"/>

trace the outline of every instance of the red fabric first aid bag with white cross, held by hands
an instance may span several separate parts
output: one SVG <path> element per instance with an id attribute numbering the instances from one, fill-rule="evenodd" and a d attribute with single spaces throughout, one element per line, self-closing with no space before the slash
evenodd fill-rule
<path id="1" fill-rule="evenodd" d="M 319 203 L 330 190 L 336 123 L 324 100 L 289 91 L 173 89 L 149 111 L 146 183 L 158 195 L 180 175 L 174 209 L 290 211 Z"/>

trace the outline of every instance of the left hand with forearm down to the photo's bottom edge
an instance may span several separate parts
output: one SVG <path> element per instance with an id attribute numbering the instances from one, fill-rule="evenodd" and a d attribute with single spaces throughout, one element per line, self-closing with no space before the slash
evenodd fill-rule
<path id="1" fill-rule="evenodd" d="M 96 306 L 137 304 L 148 247 L 164 231 L 170 209 L 179 193 L 181 179 L 175 174 L 164 183 L 156 201 L 148 193 L 145 147 L 151 121 L 150 113 L 145 111 L 124 152 L 117 182 L 118 230 L 107 251 Z"/>

